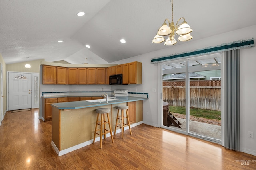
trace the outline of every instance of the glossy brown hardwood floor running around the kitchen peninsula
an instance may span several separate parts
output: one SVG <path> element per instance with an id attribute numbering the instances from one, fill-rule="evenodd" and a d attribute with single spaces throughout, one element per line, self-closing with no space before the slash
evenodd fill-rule
<path id="1" fill-rule="evenodd" d="M 168 170 L 256 169 L 256 156 L 215 143 L 145 124 L 63 156 L 51 146 L 51 121 L 38 119 L 38 109 L 6 113 L 0 126 L 1 170 Z M 240 161 L 252 161 L 244 164 Z M 243 161 L 243 162 L 244 162 Z"/>

